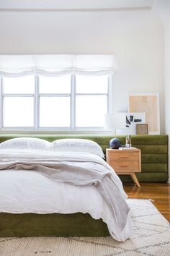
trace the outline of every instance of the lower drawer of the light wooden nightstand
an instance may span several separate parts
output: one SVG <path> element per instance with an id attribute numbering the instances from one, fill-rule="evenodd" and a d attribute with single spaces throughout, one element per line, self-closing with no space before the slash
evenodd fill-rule
<path id="1" fill-rule="evenodd" d="M 109 165 L 115 169 L 115 171 L 138 171 L 138 161 L 110 161 Z"/>

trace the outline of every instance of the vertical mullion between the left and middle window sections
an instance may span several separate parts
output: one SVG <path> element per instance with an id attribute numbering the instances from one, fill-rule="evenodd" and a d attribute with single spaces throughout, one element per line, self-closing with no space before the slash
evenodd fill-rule
<path id="1" fill-rule="evenodd" d="M 39 128 L 40 123 L 40 97 L 39 97 L 39 77 L 35 75 L 35 95 L 34 95 L 34 126 Z"/>

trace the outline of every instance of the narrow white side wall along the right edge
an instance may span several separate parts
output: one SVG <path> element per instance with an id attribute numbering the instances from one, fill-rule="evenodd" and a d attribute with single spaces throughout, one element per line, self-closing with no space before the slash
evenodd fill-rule
<path id="1" fill-rule="evenodd" d="M 164 25 L 164 88 L 165 88 L 165 132 L 170 137 L 170 1 L 156 0 L 153 12 Z M 170 148 L 170 142 L 169 142 Z M 170 154 L 169 154 L 170 163 Z M 170 183 L 170 168 L 169 168 Z"/>

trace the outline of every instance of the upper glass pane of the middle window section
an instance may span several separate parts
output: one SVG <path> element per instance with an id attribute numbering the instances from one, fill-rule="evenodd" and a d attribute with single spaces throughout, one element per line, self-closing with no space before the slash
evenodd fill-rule
<path id="1" fill-rule="evenodd" d="M 71 75 L 40 76 L 40 93 L 71 93 Z"/>

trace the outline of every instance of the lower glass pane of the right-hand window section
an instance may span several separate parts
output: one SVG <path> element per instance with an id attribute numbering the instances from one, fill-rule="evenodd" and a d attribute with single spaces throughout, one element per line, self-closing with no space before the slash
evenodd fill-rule
<path id="1" fill-rule="evenodd" d="M 104 127 L 107 96 L 76 96 L 76 127 Z"/>

